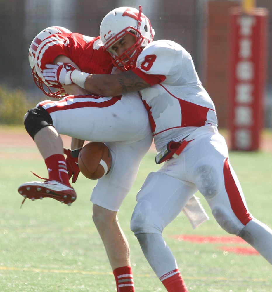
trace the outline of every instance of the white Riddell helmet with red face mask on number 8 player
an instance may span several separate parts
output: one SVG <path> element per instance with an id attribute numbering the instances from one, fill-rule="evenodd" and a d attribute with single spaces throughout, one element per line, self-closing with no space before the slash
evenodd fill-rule
<path id="1" fill-rule="evenodd" d="M 117 56 L 111 47 L 125 34 L 131 34 L 136 42 L 122 55 Z M 136 60 L 143 48 L 153 41 L 155 35 L 150 20 L 139 10 L 132 7 L 119 7 L 110 11 L 100 25 L 100 37 L 106 50 L 119 69 L 128 70 L 136 66 Z"/>

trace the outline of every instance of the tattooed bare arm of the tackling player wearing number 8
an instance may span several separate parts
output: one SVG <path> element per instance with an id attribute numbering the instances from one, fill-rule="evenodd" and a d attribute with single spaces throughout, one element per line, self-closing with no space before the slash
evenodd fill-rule
<path id="1" fill-rule="evenodd" d="M 103 96 L 116 96 L 139 91 L 150 85 L 132 71 L 113 75 L 90 74 L 85 80 L 87 91 Z"/>

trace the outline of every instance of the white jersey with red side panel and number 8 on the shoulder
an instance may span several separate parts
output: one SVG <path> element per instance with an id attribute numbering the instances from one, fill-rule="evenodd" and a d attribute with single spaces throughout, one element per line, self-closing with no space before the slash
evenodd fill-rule
<path id="1" fill-rule="evenodd" d="M 214 103 L 182 46 L 169 40 L 148 44 L 133 71 L 151 86 L 141 90 L 141 95 L 157 150 L 201 126 L 217 127 Z"/>

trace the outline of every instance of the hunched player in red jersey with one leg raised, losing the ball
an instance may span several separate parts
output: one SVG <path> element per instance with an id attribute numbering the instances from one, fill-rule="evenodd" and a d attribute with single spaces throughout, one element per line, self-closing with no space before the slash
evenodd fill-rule
<path id="1" fill-rule="evenodd" d="M 103 97 L 91 95 L 75 84 L 65 86 L 44 80 L 41 70 L 48 62 L 69 62 L 77 69 L 92 73 L 114 73 L 116 68 L 100 37 L 71 33 L 63 27 L 49 27 L 32 41 L 29 61 L 37 86 L 46 95 L 61 99 L 39 102 L 25 114 L 25 128 L 45 160 L 49 178 L 44 182 L 24 183 L 18 191 L 25 199 L 50 197 L 70 205 L 76 199 L 76 192 L 69 179 L 77 180 L 76 161 L 84 141 L 105 142 L 112 155 L 112 166 L 92 191 L 93 220 L 105 246 L 118 291 L 134 291 L 129 245 L 117 212 L 152 142 L 143 102 L 138 93 Z M 60 134 L 73 137 L 72 150 L 65 150 L 66 159 Z"/>

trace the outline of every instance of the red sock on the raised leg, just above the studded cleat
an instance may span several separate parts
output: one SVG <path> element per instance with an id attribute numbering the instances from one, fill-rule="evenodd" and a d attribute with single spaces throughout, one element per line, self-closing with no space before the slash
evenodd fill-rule
<path id="1" fill-rule="evenodd" d="M 54 154 L 47 157 L 44 161 L 47 166 L 49 180 L 57 180 L 70 186 L 64 155 Z"/>

